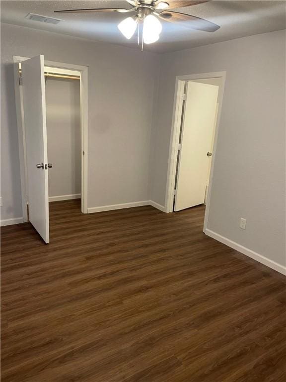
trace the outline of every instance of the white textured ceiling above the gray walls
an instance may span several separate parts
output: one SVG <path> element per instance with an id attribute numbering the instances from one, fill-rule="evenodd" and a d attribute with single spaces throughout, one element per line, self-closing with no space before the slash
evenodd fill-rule
<path id="1" fill-rule="evenodd" d="M 53 12 L 60 9 L 96 7 L 124 8 L 129 7 L 129 5 L 125 0 L 4 0 L 1 1 L 1 22 L 139 49 L 135 36 L 131 41 L 128 41 L 117 29 L 120 20 L 128 17 L 122 13 L 57 14 Z M 145 50 L 160 53 L 176 51 L 286 28 L 286 1 L 280 0 L 213 0 L 181 8 L 178 11 L 206 18 L 221 27 L 216 32 L 211 33 L 187 29 L 175 23 L 163 22 L 160 40 L 154 44 L 145 45 Z M 57 17 L 65 21 L 53 25 L 27 20 L 24 17 L 29 12 Z"/>

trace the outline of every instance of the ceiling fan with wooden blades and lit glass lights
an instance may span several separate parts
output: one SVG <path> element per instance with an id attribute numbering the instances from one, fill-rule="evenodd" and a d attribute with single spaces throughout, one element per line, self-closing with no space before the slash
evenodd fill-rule
<path id="1" fill-rule="evenodd" d="M 140 24 L 143 22 L 143 43 L 151 44 L 159 39 L 162 25 L 159 19 L 168 22 L 182 22 L 181 25 L 207 32 L 216 31 L 219 26 L 204 18 L 190 14 L 175 12 L 169 9 L 182 8 L 208 2 L 210 0 L 126 0 L 131 8 L 91 8 L 91 9 L 64 9 L 55 10 L 56 13 L 85 13 L 85 12 L 135 12 L 136 15 L 125 18 L 118 25 L 118 29 L 127 38 L 131 39 L 138 26 L 138 44 L 140 42 Z"/>

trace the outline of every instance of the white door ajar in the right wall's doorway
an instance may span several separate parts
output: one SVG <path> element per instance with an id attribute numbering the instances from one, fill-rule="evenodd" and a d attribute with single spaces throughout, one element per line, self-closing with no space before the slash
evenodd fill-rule
<path id="1" fill-rule="evenodd" d="M 191 81 L 187 84 L 175 211 L 205 201 L 217 94 L 218 86 Z"/>

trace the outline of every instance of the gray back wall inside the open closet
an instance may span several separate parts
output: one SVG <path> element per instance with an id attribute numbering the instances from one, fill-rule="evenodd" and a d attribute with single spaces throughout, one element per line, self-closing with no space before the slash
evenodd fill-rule
<path id="1" fill-rule="evenodd" d="M 80 87 L 78 80 L 47 78 L 49 196 L 80 193 Z"/>

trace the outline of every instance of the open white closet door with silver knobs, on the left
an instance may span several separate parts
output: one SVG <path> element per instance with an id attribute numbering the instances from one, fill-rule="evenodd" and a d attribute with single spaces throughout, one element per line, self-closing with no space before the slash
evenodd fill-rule
<path id="1" fill-rule="evenodd" d="M 22 62 L 29 221 L 49 243 L 48 154 L 44 56 Z"/>

